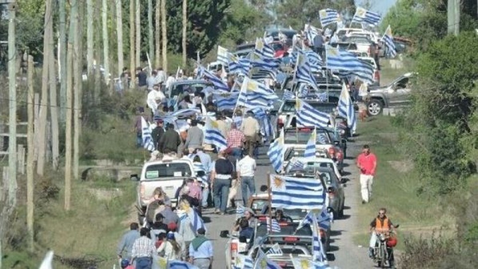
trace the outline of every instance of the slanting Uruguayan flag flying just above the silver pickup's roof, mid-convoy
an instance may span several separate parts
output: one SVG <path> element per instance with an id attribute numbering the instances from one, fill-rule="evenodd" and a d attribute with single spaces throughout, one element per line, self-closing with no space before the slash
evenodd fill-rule
<path id="1" fill-rule="evenodd" d="M 329 125 L 329 115 L 314 109 L 306 102 L 296 99 L 296 119 L 297 126 L 305 127 L 327 127 Z"/>

